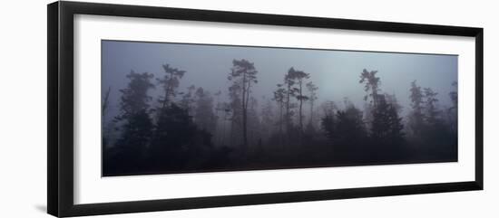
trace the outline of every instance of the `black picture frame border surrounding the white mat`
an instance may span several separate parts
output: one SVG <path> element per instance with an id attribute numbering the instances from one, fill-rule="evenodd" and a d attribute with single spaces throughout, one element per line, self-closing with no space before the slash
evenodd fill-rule
<path id="1" fill-rule="evenodd" d="M 239 194 L 132 202 L 123 199 L 123 202 L 118 203 L 74 204 L 73 15 L 75 14 L 475 37 L 475 180 L 454 183 L 376 186 L 269 194 Z M 47 16 L 47 211 L 54 216 L 137 213 L 249 204 L 279 204 L 401 194 L 471 191 L 483 190 L 484 188 L 484 30 L 482 28 L 81 2 L 54 2 L 47 5 Z"/>

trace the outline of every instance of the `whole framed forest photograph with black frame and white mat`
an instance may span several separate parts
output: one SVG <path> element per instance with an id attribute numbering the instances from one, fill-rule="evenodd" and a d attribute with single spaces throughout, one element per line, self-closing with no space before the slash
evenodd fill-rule
<path id="1" fill-rule="evenodd" d="M 482 190 L 483 49 L 475 27 L 55 2 L 48 213 Z"/>

